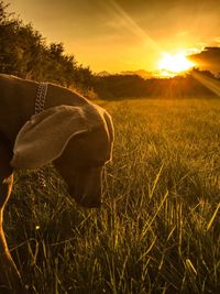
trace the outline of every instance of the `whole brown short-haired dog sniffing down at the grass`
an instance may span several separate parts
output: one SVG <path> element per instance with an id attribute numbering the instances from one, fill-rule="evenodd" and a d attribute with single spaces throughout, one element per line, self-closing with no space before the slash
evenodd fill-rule
<path id="1" fill-rule="evenodd" d="M 2 228 L 13 168 L 53 162 L 78 204 L 99 207 L 102 168 L 111 159 L 113 127 L 107 111 L 48 84 L 44 111 L 34 115 L 37 85 L 0 75 L 0 293 L 22 293 Z"/>

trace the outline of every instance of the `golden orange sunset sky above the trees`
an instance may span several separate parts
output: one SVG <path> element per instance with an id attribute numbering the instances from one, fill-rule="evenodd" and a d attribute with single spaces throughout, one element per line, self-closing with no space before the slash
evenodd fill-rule
<path id="1" fill-rule="evenodd" d="M 164 53 L 220 46 L 220 0 L 8 0 L 95 73 L 158 69 Z M 202 55 L 204 56 L 204 55 Z M 202 57 L 201 56 L 201 57 Z"/>

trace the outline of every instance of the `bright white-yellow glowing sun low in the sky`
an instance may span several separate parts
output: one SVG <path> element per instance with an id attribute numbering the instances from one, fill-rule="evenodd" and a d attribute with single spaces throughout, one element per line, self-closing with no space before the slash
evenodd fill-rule
<path id="1" fill-rule="evenodd" d="M 158 63 L 158 68 L 164 76 L 176 76 L 182 72 L 190 69 L 195 64 L 188 61 L 182 53 L 177 53 L 175 55 L 164 53 Z"/>

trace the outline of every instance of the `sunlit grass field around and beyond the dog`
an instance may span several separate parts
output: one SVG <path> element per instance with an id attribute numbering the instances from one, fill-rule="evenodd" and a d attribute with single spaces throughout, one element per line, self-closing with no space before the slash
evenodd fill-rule
<path id="1" fill-rule="evenodd" d="M 101 209 L 47 166 L 21 172 L 4 227 L 37 294 L 220 293 L 220 100 L 100 101 L 113 117 Z"/>

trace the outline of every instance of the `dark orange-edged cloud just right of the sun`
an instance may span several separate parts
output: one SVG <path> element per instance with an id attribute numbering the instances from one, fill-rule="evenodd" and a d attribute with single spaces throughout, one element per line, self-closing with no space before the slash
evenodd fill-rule
<path id="1" fill-rule="evenodd" d="M 189 55 L 188 58 L 201 69 L 220 73 L 220 46 L 207 46 L 200 53 Z"/>

